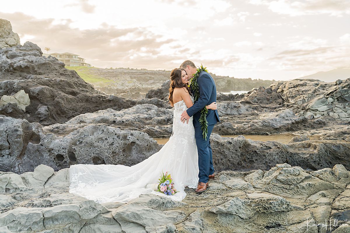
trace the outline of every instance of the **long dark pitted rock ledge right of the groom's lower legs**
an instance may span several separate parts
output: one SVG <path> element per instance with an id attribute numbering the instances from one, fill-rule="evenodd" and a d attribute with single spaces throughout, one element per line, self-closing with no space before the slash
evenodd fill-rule
<path id="1" fill-rule="evenodd" d="M 277 141 L 252 141 L 243 136 L 221 137 L 212 133 L 213 162 L 217 171 L 266 170 L 278 163 L 303 169 L 322 169 L 342 163 L 350 169 L 350 143 L 308 140 L 288 145 Z"/>

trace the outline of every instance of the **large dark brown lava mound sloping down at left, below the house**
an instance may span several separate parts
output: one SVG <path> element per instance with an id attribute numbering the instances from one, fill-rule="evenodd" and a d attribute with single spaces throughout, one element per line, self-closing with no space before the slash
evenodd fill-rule
<path id="1" fill-rule="evenodd" d="M 0 108 L 0 114 L 42 125 L 64 123 L 85 112 L 130 108 L 138 103 L 99 93 L 75 71 L 64 68 L 61 61 L 42 56 L 41 49 L 31 42 L 0 50 L 0 96 L 12 96 L 20 90 L 29 95 L 26 112 L 11 105 Z M 165 106 L 156 99 L 139 103 Z"/>

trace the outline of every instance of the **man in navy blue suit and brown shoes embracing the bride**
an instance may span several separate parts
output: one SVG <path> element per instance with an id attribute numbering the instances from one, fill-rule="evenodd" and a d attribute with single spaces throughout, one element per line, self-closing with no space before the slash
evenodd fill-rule
<path id="1" fill-rule="evenodd" d="M 188 78 L 192 78 L 197 72 L 195 64 L 190 61 L 184 61 L 180 68 L 183 68 Z M 212 151 L 210 146 L 210 134 L 217 122 L 220 122 L 217 110 L 208 110 L 207 121 L 208 121 L 208 137 L 203 139 L 203 131 L 199 118 L 201 116 L 201 110 L 205 105 L 209 105 L 212 102 L 216 102 L 216 86 L 214 79 L 208 72 L 202 71 L 197 79 L 200 97 L 193 104 L 192 107 L 187 109 L 181 114 L 181 121 L 187 121 L 193 116 L 193 125 L 195 127 L 195 137 L 198 150 L 198 167 L 199 167 L 199 182 L 197 185 L 196 192 L 203 192 L 209 187 L 208 179 L 214 179 L 214 166 Z"/>

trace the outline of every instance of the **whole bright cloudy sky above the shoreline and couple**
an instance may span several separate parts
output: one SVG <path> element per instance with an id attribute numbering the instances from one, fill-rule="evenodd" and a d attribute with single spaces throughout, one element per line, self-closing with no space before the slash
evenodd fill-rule
<path id="1" fill-rule="evenodd" d="M 1 3 L 21 44 L 101 68 L 289 80 L 350 65 L 349 0 L 19 0 Z"/>

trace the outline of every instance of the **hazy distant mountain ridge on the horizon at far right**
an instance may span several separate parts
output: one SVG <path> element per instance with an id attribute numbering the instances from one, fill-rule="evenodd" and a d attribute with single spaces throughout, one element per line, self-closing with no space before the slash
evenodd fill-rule
<path id="1" fill-rule="evenodd" d="M 324 82 L 334 82 L 338 79 L 344 80 L 348 78 L 350 78 L 350 66 L 342 66 L 330 71 L 320 71 L 300 79 L 318 79 Z"/>

